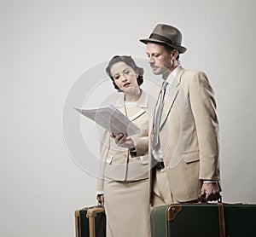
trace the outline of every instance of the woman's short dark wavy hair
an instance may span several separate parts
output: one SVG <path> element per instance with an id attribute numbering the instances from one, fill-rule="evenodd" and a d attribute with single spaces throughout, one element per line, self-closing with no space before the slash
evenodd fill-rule
<path id="1" fill-rule="evenodd" d="M 113 56 L 113 58 L 108 62 L 108 67 L 106 68 L 106 72 L 108 74 L 108 77 L 111 78 L 112 82 L 113 82 L 113 86 L 116 90 L 119 90 L 119 87 L 114 83 L 113 80 L 113 76 L 111 75 L 111 67 L 113 66 L 113 64 L 119 62 L 119 61 L 123 61 L 125 62 L 125 64 L 127 64 L 128 66 L 131 66 L 131 68 L 134 70 L 134 72 L 138 72 L 138 77 L 137 77 L 137 84 L 141 85 L 143 84 L 143 67 L 138 67 L 135 63 L 135 61 L 131 58 L 131 56 L 126 56 L 126 55 L 115 55 Z"/>

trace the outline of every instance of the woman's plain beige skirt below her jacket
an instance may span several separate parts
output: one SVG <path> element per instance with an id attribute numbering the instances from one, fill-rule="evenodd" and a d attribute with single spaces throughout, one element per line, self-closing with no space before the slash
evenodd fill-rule
<path id="1" fill-rule="evenodd" d="M 149 237 L 149 180 L 104 182 L 107 237 Z"/>

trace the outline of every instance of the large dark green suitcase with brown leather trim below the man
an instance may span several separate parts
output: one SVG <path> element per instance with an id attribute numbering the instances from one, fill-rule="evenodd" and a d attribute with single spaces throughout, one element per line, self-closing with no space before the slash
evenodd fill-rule
<path id="1" fill-rule="evenodd" d="M 150 213 L 152 237 L 253 237 L 256 205 L 173 204 Z"/>

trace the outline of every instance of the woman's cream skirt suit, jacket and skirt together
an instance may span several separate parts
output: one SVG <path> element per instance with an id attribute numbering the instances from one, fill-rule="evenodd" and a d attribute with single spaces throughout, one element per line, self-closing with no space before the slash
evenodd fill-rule
<path id="1" fill-rule="evenodd" d="M 115 105 L 141 129 L 131 136 L 137 144 L 137 155 L 118 147 L 105 131 L 101 141 L 101 167 L 97 191 L 105 198 L 108 237 L 150 236 L 148 118 L 154 102 L 142 91 L 136 102 L 126 103 L 124 94 Z"/>

